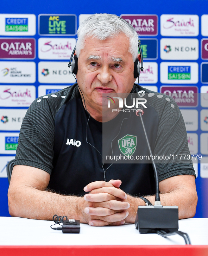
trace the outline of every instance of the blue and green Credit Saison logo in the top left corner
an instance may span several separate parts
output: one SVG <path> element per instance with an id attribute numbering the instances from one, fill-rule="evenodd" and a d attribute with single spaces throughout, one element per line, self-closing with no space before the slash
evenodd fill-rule
<path id="1" fill-rule="evenodd" d="M 6 32 L 27 32 L 28 18 L 5 18 Z"/>

